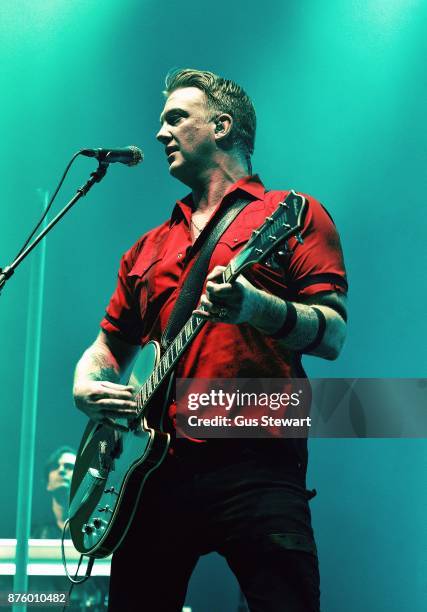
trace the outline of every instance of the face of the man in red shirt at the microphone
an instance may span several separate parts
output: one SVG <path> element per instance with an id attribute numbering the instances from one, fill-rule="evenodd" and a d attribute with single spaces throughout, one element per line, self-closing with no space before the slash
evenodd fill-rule
<path id="1" fill-rule="evenodd" d="M 156 138 L 164 145 L 169 172 L 192 185 L 208 169 L 216 151 L 213 113 L 197 87 L 173 91 L 160 116 Z"/>

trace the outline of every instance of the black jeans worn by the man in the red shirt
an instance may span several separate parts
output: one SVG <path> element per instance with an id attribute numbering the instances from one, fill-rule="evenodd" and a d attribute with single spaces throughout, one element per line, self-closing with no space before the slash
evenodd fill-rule
<path id="1" fill-rule="evenodd" d="M 277 457 L 168 457 L 113 555 L 109 610 L 180 612 L 200 555 L 217 551 L 251 612 L 319 612 L 309 497 L 296 464 Z"/>

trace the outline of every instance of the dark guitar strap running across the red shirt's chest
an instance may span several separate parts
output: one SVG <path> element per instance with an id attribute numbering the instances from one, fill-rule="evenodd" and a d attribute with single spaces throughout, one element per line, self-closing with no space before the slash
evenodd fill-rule
<path id="1" fill-rule="evenodd" d="M 185 283 L 181 287 L 180 294 L 175 302 L 165 331 L 163 332 L 161 339 L 163 349 L 166 349 L 178 335 L 178 332 L 187 319 L 189 319 L 192 311 L 196 308 L 203 284 L 206 280 L 212 251 L 225 230 L 249 202 L 252 202 L 252 199 L 238 198 L 228 206 L 224 206 L 222 212 L 219 213 L 219 218 L 216 215 L 214 216 L 211 228 L 209 228 L 211 221 L 208 223 L 206 229 L 209 228 L 210 231 L 203 232 L 204 243 L 201 246 L 199 256 L 194 262 Z M 201 235 L 199 238 L 200 237 Z M 197 240 L 199 240 L 199 238 L 197 238 Z"/>

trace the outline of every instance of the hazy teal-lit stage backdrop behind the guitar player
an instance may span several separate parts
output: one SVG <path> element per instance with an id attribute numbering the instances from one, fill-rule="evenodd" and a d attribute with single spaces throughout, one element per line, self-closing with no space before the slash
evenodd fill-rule
<path id="1" fill-rule="evenodd" d="M 255 170 L 269 188 L 314 195 L 335 219 L 348 338 L 338 361 L 306 359 L 309 375 L 426 376 L 426 19 L 421 0 L 2 0 L 1 265 L 75 151 L 134 143 L 145 154 L 138 168 L 112 166 L 47 240 L 35 517 L 45 457 L 77 446 L 85 424 L 71 401 L 73 368 L 120 256 L 185 193 L 154 138 L 170 68 L 241 83 L 258 114 Z M 56 211 L 95 167 L 74 164 Z M 1 537 L 14 535 L 29 271 L 28 259 L 0 300 Z M 323 610 L 425 611 L 426 440 L 310 448 Z M 235 610 L 219 558 L 204 559 L 196 579 L 195 612 Z"/>

